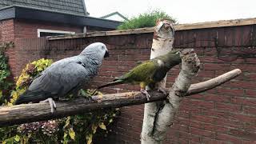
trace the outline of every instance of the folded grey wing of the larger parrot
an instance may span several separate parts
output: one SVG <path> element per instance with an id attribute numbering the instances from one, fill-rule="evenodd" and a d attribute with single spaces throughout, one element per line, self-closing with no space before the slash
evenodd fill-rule
<path id="1" fill-rule="evenodd" d="M 28 90 L 44 91 L 50 95 L 62 97 L 70 90 L 88 82 L 86 73 L 85 67 L 77 62 L 59 63 L 58 66 L 51 66 L 40 77 L 34 79 Z"/>

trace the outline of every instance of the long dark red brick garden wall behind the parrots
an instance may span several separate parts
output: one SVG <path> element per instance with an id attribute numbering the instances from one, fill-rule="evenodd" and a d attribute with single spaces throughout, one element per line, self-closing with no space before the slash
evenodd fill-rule
<path id="1" fill-rule="evenodd" d="M 174 126 L 165 143 L 253 143 L 256 141 L 256 25 L 179 30 L 174 47 L 194 48 L 201 70 L 194 82 L 202 82 L 240 68 L 242 75 L 202 94 L 184 98 Z M 92 42 L 103 42 L 110 50 L 92 86 L 111 82 L 125 74 L 138 61 L 150 58 L 153 34 L 124 34 L 66 40 L 25 39 L 17 43 L 17 74 L 26 62 L 38 58 L 58 60 L 79 54 Z M 178 75 L 179 66 L 170 70 L 167 86 Z M 139 90 L 120 85 L 102 89 L 106 93 Z M 97 143 L 140 143 L 143 105 L 122 107 L 122 114 L 110 126 L 107 138 Z"/>

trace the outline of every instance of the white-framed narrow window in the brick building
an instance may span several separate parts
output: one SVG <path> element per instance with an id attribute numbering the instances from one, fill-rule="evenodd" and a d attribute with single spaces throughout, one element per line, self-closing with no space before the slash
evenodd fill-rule
<path id="1" fill-rule="evenodd" d="M 62 34 L 75 34 L 75 32 L 74 31 L 62 31 L 62 30 L 43 30 L 43 29 L 38 29 L 38 38 L 46 37 L 46 36 L 62 35 Z"/>

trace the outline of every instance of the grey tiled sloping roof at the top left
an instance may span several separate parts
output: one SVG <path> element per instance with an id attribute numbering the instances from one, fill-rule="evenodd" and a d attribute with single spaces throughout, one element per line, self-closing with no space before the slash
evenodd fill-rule
<path id="1" fill-rule="evenodd" d="M 0 9 L 8 6 L 26 6 L 67 14 L 89 15 L 84 0 L 1 0 Z"/>

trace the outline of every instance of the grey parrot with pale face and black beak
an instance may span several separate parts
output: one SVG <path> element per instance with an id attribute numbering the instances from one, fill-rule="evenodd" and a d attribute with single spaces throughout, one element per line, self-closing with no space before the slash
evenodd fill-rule
<path id="1" fill-rule="evenodd" d="M 97 75 L 103 58 L 109 56 L 106 46 L 96 42 L 82 50 L 81 54 L 54 62 L 34 79 L 16 105 L 27 102 L 49 102 L 51 112 L 56 104 L 53 98 L 78 94 Z"/>

